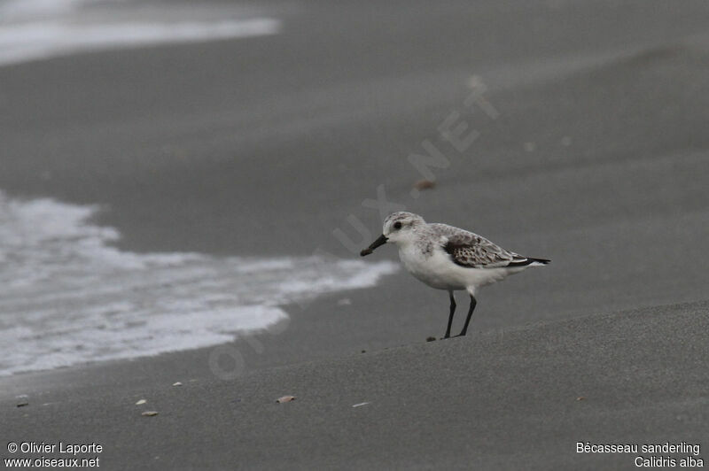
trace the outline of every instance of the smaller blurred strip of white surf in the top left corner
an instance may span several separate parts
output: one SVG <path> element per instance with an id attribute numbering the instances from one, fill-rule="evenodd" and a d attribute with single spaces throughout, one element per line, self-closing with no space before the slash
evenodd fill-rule
<path id="1" fill-rule="evenodd" d="M 0 0 L 0 66 L 91 50 L 275 35 L 278 19 L 205 2 Z"/>

